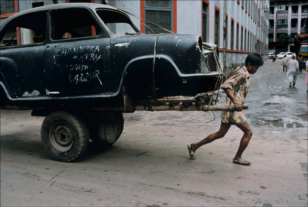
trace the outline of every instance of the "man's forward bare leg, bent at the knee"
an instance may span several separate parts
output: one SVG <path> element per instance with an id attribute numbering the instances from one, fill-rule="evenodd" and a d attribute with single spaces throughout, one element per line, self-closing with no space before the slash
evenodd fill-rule
<path id="1" fill-rule="evenodd" d="M 246 147 L 247 147 L 247 145 L 250 141 L 250 138 L 252 136 L 252 130 L 250 129 L 250 126 L 248 125 L 247 122 L 238 124 L 236 126 L 244 132 L 244 135 L 243 135 L 242 139 L 240 140 L 240 147 L 237 150 L 237 153 L 236 153 L 235 157 L 233 158 L 233 161 L 238 161 L 241 158 L 241 156 L 242 156 L 244 150 L 246 149 Z M 247 162 L 245 162 L 245 163 L 247 163 Z M 243 163 L 243 164 L 245 164 L 245 163 Z"/>

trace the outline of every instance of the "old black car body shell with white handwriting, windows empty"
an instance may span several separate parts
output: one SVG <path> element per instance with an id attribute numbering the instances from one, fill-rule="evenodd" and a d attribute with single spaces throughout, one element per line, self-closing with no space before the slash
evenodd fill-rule
<path id="1" fill-rule="evenodd" d="M 102 32 L 80 39 L 52 40 L 50 12 L 65 8 L 87 9 Z M 158 97 L 195 95 L 214 89 L 221 72 L 218 67 L 202 71 L 200 36 L 113 34 L 97 15 L 97 9 L 121 12 L 101 4 L 70 3 L 37 7 L 7 18 L 1 24 L 1 39 L 7 24 L 23 15 L 45 12 L 47 23 L 43 42 L 1 47 L 1 104 L 123 105 L 123 85 L 136 97 L 152 95 L 153 88 L 142 84 L 153 80 L 154 49 Z M 209 44 L 211 47 L 216 46 Z"/>

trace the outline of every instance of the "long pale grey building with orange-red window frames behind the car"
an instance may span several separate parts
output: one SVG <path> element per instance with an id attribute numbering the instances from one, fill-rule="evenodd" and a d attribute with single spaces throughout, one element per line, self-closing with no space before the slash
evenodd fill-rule
<path id="1" fill-rule="evenodd" d="M 174 33 L 200 35 L 204 42 L 219 47 L 220 63 L 222 67 L 225 65 L 225 77 L 237 66 L 244 65 L 245 58 L 250 52 L 258 52 L 264 59 L 268 57 L 268 0 L 2 0 L 1 22 L 19 11 L 53 3 L 70 2 L 107 4 L 156 23 Z M 142 33 L 166 32 L 142 19 L 133 16 L 130 18 Z M 2 43 L 7 41 L 5 38 Z M 21 34 L 15 39 L 18 44 L 23 41 Z"/>

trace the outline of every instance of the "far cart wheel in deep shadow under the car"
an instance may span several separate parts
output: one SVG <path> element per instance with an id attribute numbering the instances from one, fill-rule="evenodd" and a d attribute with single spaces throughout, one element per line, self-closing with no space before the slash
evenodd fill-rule
<path id="1" fill-rule="evenodd" d="M 90 138 L 101 145 L 112 145 L 123 132 L 124 119 L 120 112 L 107 113 L 104 116 L 91 118 Z"/>

